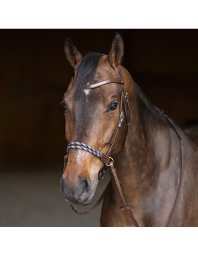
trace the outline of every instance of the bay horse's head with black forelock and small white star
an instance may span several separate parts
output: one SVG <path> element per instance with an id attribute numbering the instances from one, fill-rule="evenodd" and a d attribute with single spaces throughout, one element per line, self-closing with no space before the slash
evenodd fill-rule
<path id="1" fill-rule="evenodd" d="M 120 119 L 123 87 L 108 83 L 86 89 L 86 85 L 108 79 L 119 79 L 119 68 L 125 84 L 131 76 L 120 66 L 124 56 L 124 44 L 120 34 L 115 33 L 108 56 L 89 53 L 83 57 L 70 39 L 64 44 L 65 56 L 74 68 L 75 85 L 70 83 L 63 97 L 67 114 L 65 138 L 79 142 L 107 154 L 113 143 Z M 125 112 L 123 106 L 122 111 Z M 122 151 L 127 134 L 126 118 L 114 142 L 111 157 Z M 104 163 L 99 157 L 81 149 L 70 149 L 67 167 L 60 182 L 62 195 L 69 203 L 87 205 L 93 202 L 98 175 Z"/>

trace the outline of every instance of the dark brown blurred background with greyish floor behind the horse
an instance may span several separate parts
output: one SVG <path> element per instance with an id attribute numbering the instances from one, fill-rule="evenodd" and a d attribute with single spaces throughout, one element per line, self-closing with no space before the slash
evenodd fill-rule
<path id="1" fill-rule="evenodd" d="M 101 206 L 79 216 L 59 189 L 67 148 L 59 104 L 74 74 L 63 45 L 70 37 L 82 55 L 108 54 L 116 31 L 122 65 L 198 145 L 197 30 L 1 30 L 0 226 L 100 226 Z"/>

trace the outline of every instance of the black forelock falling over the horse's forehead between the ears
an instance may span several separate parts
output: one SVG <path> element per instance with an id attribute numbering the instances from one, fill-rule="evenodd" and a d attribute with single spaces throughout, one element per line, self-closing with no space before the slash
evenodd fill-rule
<path id="1" fill-rule="evenodd" d="M 76 73 L 76 83 L 74 87 L 75 98 L 82 97 L 85 85 L 93 83 L 98 61 L 101 56 L 103 56 L 103 54 L 91 52 L 82 59 Z"/>

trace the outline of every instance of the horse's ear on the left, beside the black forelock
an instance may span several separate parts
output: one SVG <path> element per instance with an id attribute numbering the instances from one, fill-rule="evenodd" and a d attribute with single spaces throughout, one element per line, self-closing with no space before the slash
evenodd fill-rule
<path id="1" fill-rule="evenodd" d="M 70 38 L 68 38 L 64 43 L 64 52 L 66 59 L 73 68 L 75 68 L 78 62 L 83 58 Z"/>

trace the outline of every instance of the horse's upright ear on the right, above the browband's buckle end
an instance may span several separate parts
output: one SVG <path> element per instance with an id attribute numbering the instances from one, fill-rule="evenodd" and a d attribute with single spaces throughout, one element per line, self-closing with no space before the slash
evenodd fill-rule
<path id="1" fill-rule="evenodd" d="M 114 68 L 117 68 L 121 64 L 123 57 L 124 42 L 121 35 L 116 32 L 111 45 L 111 50 L 108 54 L 108 60 Z"/>

